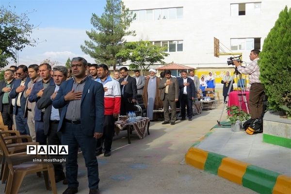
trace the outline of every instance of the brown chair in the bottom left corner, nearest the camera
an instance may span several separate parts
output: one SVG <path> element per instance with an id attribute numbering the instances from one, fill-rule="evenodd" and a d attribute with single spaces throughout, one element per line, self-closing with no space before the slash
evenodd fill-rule
<path id="1" fill-rule="evenodd" d="M 9 176 L 6 184 L 5 194 L 17 194 L 21 186 L 23 178 L 27 174 L 43 172 L 46 188 L 49 187 L 49 180 L 53 194 L 57 194 L 57 188 L 54 178 L 54 168 L 51 163 L 27 163 L 32 162 L 32 159 L 38 158 L 36 155 L 26 155 L 26 153 L 9 153 L 8 147 L 3 136 L 0 134 L 0 147 L 6 158 L 6 163 L 9 168 Z"/>

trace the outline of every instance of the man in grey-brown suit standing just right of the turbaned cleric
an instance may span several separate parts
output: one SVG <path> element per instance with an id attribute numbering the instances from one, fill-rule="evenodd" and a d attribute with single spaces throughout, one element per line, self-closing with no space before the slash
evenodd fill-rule
<path id="1" fill-rule="evenodd" d="M 169 105 L 172 110 L 171 125 L 175 125 L 175 121 L 177 118 L 176 102 L 179 99 L 178 79 L 171 77 L 170 70 L 165 70 L 164 72 L 165 72 L 165 77 L 162 79 L 159 85 L 159 89 L 162 90 L 161 100 L 163 104 L 164 118 L 165 118 L 165 121 L 162 122 L 162 125 L 170 123 Z"/>

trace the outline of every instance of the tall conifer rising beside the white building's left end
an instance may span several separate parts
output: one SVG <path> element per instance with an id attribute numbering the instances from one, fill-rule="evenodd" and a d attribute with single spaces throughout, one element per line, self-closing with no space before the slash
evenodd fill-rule
<path id="1" fill-rule="evenodd" d="M 134 17 L 121 0 L 107 0 L 101 17 L 92 15 L 91 24 L 95 29 L 86 31 L 91 40 L 84 41 L 82 51 L 115 70 L 116 64 L 121 63 L 115 55 L 122 49 L 124 36 L 134 35 L 134 31 L 128 30 Z"/>

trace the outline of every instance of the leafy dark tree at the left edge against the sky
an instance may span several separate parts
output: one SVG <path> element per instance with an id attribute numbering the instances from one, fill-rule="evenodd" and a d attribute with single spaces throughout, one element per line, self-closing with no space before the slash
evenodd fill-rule
<path id="1" fill-rule="evenodd" d="M 30 38 L 33 25 L 29 24 L 26 13 L 17 15 L 14 11 L 0 6 L 0 67 L 8 65 L 8 58 L 16 62 L 16 50 L 26 46 L 35 46 L 35 40 Z"/>

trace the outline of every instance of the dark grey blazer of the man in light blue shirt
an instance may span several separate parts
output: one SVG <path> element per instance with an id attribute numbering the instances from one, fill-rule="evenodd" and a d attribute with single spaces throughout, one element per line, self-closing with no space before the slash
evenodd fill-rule
<path id="1" fill-rule="evenodd" d="M 49 85 L 44 90 L 44 93 L 41 98 L 38 99 L 36 102 L 36 107 L 39 110 L 45 109 L 45 115 L 44 115 L 44 131 L 45 135 L 48 135 L 49 133 L 49 120 L 50 120 L 50 112 L 51 112 L 51 106 L 52 106 L 52 100 L 50 99 L 50 96 L 54 93 L 54 90 L 56 88 L 56 85 Z M 59 109 L 59 113 L 61 115 L 62 109 Z"/>

